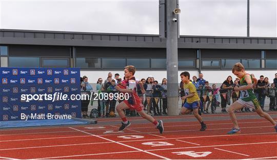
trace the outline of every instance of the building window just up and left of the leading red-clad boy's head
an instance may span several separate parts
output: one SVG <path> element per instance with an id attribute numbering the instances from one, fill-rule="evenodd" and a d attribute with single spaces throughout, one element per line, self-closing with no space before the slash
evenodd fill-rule
<path id="1" fill-rule="evenodd" d="M 102 58 L 102 68 L 123 69 L 126 66 L 126 58 Z"/>

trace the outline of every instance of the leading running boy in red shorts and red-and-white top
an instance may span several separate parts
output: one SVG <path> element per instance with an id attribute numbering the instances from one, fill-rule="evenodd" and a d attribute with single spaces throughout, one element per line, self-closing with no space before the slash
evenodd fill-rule
<path id="1" fill-rule="evenodd" d="M 120 115 L 123 121 L 122 126 L 119 128 L 119 131 L 126 129 L 131 125 L 125 116 L 124 109 L 135 109 L 143 118 L 153 123 L 162 134 L 164 132 L 163 121 L 162 120 L 156 121 L 156 119 L 154 119 L 151 115 L 146 114 L 143 110 L 144 106 L 141 103 L 140 97 L 138 97 L 136 93 L 136 85 L 138 82 L 134 77 L 134 73 L 135 73 L 134 66 L 126 66 L 124 68 L 124 75 L 126 78 L 128 78 L 126 89 L 120 88 L 119 86 L 115 87 L 115 89 L 117 89 L 120 92 L 129 93 L 129 98 L 125 99 L 123 102 L 121 102 L 119 105 L 116 106 L 116 111 Z M 143 89 L 142 83 L 140 83 L 140 85 L 141 85 L 141 88 Z"/>

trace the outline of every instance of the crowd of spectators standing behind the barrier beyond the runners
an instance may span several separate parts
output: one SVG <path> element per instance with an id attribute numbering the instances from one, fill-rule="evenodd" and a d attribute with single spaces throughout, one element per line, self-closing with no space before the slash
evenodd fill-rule
<path id="1" fill-rule="evenodd" d="M 251 76 L 254 76 L 251 74 Z M 145 94 L 142 93 L 140 85 L 137 85 L 137 94 L 140 96 L 141 103 L 144 105 L 144 110 L 147 114 L 150 115 L 167 115 L 167 79 L 163 78 L 162 81 L 157 81 L 153 76 L 148 76 L 146 79 L 138 79 L 142 82 Z M 96 89 L 93 90 L 92 86 L 88 83 L 88 77 L 81 77 L 81 91 L 82 94 L 91 94 L 95 93 L 117 93 L 115 89 L 117 84 L 126 83 L 128 79 L 125 77 L 120 78 L 120 74 L 114 74 L 109 72 L 107 78 L 103 83 L 103 78 L 98 78 L 96 82 Z M 202 107 L 202 113 L 215 113 L 216 107 L 221 107 L 222 113 L 227 113 L 226 107 L 231 103 L 234 103 L 241 96 L 240 92 L 234 91 L 235 86 L 240 86 L 240 79 L 235 78 L 233 80 L 232 76 L 228 76 L 225 81 L 221 84 L 210 84 L 202 73 L 199 74 L 197 78 L 195 75 L 192 77 L 191 82 L 197 89 L 197 93 L 200 96 Z M 217 85 L 217 86 L 216 86 Z M 180 96 L 184 96 L 182 82 L 180 83 Z M 254 89 L 254 94 L 258 99 L 261 108 L 264 110 L 265 98 L 270 98 L 269 111 L 276 111 L 276 100 L 277 100 L 277 73 L 273 82 L 270 83 L 268 77 L 260 75 L 258 84 Z M 98 99 L 97 100 L 97 110 L 98 114 L 101 117 L 110 117 L 114 116 L 116 102 L 120 99 L 109 98 L 108 100 Z M 93 101 L 83 100 L 82 101 L 82 113 L 83 117 L 87 117 L 88 114 L 88 105 L 92 104 Z M 182 100 L 182 106 L 185 101 Z M 210 110 L 209 110 L 210 107 Z M 243 108 L 236 112 L 252 112 L 249 108 Z M 135 111 L 126 110 L 127 116 L 138 115 Z"/>

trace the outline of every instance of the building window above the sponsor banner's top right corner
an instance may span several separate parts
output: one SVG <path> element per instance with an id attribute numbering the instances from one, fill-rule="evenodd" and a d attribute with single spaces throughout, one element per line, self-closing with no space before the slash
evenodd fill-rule
<path id="1" fill-rule="evenodd" d="M 76 58 L 76 67 L 101 68 L 101 58 Z"/>

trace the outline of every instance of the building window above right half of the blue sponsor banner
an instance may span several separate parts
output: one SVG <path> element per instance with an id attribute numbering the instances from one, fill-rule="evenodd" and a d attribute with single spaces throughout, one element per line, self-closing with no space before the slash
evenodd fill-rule
<path id="1" fill-rule="evenodd" d="M 42 67 L 70 67 L 69 58 L 42 58 Z"/>

